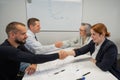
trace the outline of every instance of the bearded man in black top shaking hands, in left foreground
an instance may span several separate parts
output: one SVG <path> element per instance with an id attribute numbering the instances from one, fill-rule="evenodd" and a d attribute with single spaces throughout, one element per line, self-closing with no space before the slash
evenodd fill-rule
<path id="1" fill-rule="evenodd" d="M 27 54 L 25 54 L 25 55 L 18 54 L 17 55 L 17 53 L 13 54 L 12 52 L 11 52 L 12 55 L 9 55 L 10 52 L 8 52 L 8 55 L 5 55 L 5 54 L 7 54 L 7 48 L 6 48 L 6 52 L 1 51 L 1 56 L 3 56 L 3 53 L 5 53 L 4 54 L 5 56 L 1 57 L 3 59 L 0 61 L 0 66 L 2 69 L 2 70 L 0 70 L 0 76 L 2 75 L 1 77 L 4 77 L 4 78 L 6 77 L 6 79 L 2 79 L 2 80 L 22 80 L 22 77 L 24 76 L 24 74 L 22 76 L 21 76 L 21 74 L 16 75 L 16 73 L 18 73 L 18 71 L 19 71 L 20 62 L 23 60 L 26 61 L 26 60 L 30 59 L 31 54 L 33 54 L 32 58 L 35 56 L 34 53 L 31 53 L 30 51 L 28 51 L 27 48 L 24 46 L 26 39 L 27 39 L 26 32 L 27 32 L 27 30 L 23 23 L 11 22 L 7 25 L 6 33 L 7 33 L 8 39 L 6 39 L 1 44 L 1 46 L 11 46 L 11 47 L 17 48 L 23 52 L 28 53 L 28 55 Z M 55 60 L 57 58 L 64 59 L 67 56 L 68 56 L 67 54 L 60 55 L 59 53 L 52 54 L 52 55 L 38 55 L 38 57 L 41 57 L 41 60 L 39 59 L 40 63 Z M 17 57 L 18 57 L 18 59 L 17 59 Z M 34 57 L 35 60 L 38 60 L 37 59 L 38 57 L 37 56 L 35 56 L 35 57 Z M 35 61 L 34 58 L 33 58 L 33 61 Z M 28 62 L 28 61 L 26 61 L 26 62 Z M 38 63 L 38 62 L 35 62 L 35 63 Z M 29 68 L 29 69 L 25 70 L 25 72 L 28 74 L 35 72 L 36 67 L 33 65 L 36 65 L 36 64 L 26 63 L 26 67 L 28 66 L 27 68 Z M 15 79 L 14 76 L 16 76 L 17 78 Z"/>

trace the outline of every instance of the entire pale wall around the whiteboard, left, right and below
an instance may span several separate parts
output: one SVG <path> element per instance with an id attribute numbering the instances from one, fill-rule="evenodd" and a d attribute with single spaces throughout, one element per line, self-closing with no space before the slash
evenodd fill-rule
<path id="1" fill-rule="evenodd" d="M 5 3 L 5 5 L 4 5 Z M 120 46 L 120 0 L 83 0 L 82 22 L 95 24 L 104 23 L 111 32 L 111 38 Z M 74 7 L 74 6 L 73 6 Z M 0 42 L 6 38 L 6 24 L 11 21 L 26 23 L 25 0 L 0 0 Z M 79 32 L 40 32 L 38 39 L 43 44 L 51 44 L 58 40 L 75 37 Z M 120 48 L 119 48 L 120 50 Z"/>

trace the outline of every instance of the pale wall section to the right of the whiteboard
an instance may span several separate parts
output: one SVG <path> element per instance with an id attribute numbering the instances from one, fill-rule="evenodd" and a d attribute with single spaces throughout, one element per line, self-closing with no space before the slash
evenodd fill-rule
<path id="1" fill-rule="evenodd" d="M 120 52 L 120 0 L 84 0 L 83 22 L 104 23 Z"/>

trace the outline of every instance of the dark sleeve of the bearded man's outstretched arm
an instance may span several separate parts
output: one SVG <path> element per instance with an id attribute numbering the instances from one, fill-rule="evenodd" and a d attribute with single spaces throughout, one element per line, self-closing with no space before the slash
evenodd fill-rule
<path id="1" fill-rule="evenodd" d="M 20 49 L 10 47 L 10 46 L 0 46 L 0 58 L 5 60 L 12 60 L 17 62 L 27 62 L 27 63 L 44 63 L 47 61 L 52 61 L 59 58 L 58 53 L 53 54 L 31 54 L 27 52 L 23 52 Z"/>

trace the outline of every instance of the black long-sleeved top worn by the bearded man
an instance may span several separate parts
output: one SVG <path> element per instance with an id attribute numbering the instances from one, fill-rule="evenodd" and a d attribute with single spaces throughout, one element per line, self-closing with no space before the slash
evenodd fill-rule
<path id="1" fill-rule="evenodd" d="M 16 80 L 20 62 L 43 63 L 55 60 L 57 53 L 49 55 L 35 55 L 20 46 L 18 49 L 10 46 L 6 40 L 0 45 L 0 80 Z"/>

